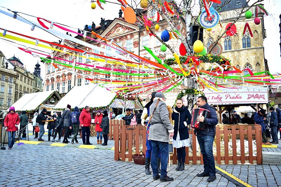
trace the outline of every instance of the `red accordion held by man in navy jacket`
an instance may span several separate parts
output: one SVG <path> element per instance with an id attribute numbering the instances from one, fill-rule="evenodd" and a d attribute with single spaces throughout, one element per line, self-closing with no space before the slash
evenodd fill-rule
<path id="1" fill-rule="evenodd" d="M 209 116 L 210 111 L 206 110 L 204 108 L 193 108 L 192 110 L 192 118 L 191 118 L 191 127 L 192 128 L 197 128 L 197 129 L 204 129 L 205 128 L 205 121 L 203 122 L 198 122 L 197 121 L 197 116 L 202 115 L 205 119 Z"/>

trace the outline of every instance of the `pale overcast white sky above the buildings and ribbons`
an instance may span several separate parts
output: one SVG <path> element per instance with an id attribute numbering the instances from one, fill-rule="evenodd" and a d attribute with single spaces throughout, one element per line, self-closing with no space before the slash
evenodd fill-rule
<path id="1" fill-rule="evenodd" d="M 267 35 L 267 38 L 264 39 L 265 58 L 268 60 L 270 72 L 278 72 L 281 74 L 281 57 L 279 46 L 279 15 L 281 13 L 281 1 L 267 0 L 261 3 L 264 3 L 264 8 L 267 9 L 267 11 L 271 14 L 270 16 L 264 17 L 264 25 Z M 119 5 L 112 6 L 110 3 L 102 3 L 102 6 L 105 10 L 102 10 L 97 5 L 96 9 L 93 10 L 91 9 L 91 2 L 89 0 L 0 0 L 0 6 L 33 16 L 46 18 L 54 22 L 80 29 L 82 29 L 86 24 L 91 25 L 92 22 L 95 22 L 96 26 L 98 26 L 101 17 L 105 19 L 113 19 L 118 17 L 118 12 L 120 9 Z M 19 15 L 21 14 L 19 13 Z M 31 17 L 27 17 L 25 15 L 23 17 L 32 19 Z M 34 31 L 31 31 L 31 26 L 3 15 L 2 13 L 0 13 L 0 27 L 26 34 L 28 36 L 38 37 L 47 41 L 59 40 L 45 31 L 40 31 L 38 28 L 36 28 Z M 30 72 L 34 71 L 35 64 L 38 60 L 40 60 L 39 58 L 34 58 L 32 55 L 27 54 L 22 50 L 19 50 L 17 47 L 7 44 L 2 40 L 0 40 L 0 50 L 7 58 L 15 55 L 23 62 L 24 65 L 26 65 L 27 70 Z M 41 73 L 42 78 L 44 79 L 44 67 L 42 63 Z"/>

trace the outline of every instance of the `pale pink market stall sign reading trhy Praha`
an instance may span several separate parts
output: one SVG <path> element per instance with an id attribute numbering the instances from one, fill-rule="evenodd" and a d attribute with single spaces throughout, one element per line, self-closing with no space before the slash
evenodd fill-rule
<path id="1" fill-rule="evenodd" d="M 267 89 L 249 87 L 246 89 L 221 89 L 221 92 L 203 91 L 208 104 L 250 104 L 268 103 Z"/>

